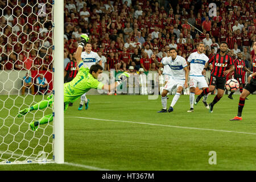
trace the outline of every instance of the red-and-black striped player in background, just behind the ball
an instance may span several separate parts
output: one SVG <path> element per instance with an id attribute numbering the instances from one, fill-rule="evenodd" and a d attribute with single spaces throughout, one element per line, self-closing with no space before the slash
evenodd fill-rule
<path id="1" fill-rule="evenodd" d="M 240 85 L 240 92 L 242 93 L 243 91 L 243 83 L 242 83 L 242 77 L 243 77 L 243 70 L 246 72 L 250 73 L 250 70 L 245 67 L 245 61 L 242 60 L 242 53 L 238 52 L 237 53 L 237 59 L 234 60 L 234 78 L 239 82 Z M 228 98 L 233 100 L 232 95 L 234 92 L 230 92 Z"/>

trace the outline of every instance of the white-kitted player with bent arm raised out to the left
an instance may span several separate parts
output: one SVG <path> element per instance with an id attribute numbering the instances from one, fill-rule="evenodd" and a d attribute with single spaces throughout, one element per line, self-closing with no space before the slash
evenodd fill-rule
<path id="1" fill-rule="evenodd" d="M 167 51 L 168 53 L 168 51 Z M 188 67 L 186 60 L 177 55 L 177 51 L 175 48 L 170 49 L 170 55 L 172 60 L 164 60 L 162 63 L 159 63 L 155 59 L 155 55 L 151 56 L 151 59 L 155 62 L 157 67 L 163 67 L 164 65 L 168 65 L 171 68 L 171 80 L 167 82 L 164 86 L 162 92 L 162 106 L 163 109 L 158 111 L 158 113 L 167 113 L 167 93 L 172 91 L 172 89 L 177 88 L 177 92 L 172 99 L 171 106 L 168 109 L 168 112 L 174 111 L 174 105 L 177 100 L 179 100 L 181 92 L 183 88 L 188 88 Z"/>

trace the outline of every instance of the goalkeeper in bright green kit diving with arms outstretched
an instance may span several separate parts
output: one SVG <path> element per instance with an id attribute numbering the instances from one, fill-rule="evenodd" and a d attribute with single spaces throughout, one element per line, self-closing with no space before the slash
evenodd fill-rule
<path id="1" fill-rule="evenodd" d="M 77 73 L 76 77 L 73 78 L 72 81 L 67 82 L 64 84 L 64 111 L 67 110 L 68 104 L 75 102 L 78 98 L 82 96 L 82 94 L 88 92 L 90 89 L 101 89 L 101 90 L 108 90 L 110 91 L 111 88 L 116 88 L 118 85 L 122 83 L 127 77 L 129 77 L 129 73 L 122 73 L 118 80 L 115 81 L 113 84 L 103 84 L 102 82 L 98 81 L 98 76 L 103 72 L 103 68 L 99 64 L 94 64 L 90 69 L 83 63 L 81 59 L 81 53 L 84 49 L 84 45 L 86 42 L 89 41 L 89 37 L 86 34 L 82 34 L 80 38 L 79 46 L 77 47 L 75 59 L 77 60 L 79 72 Z M 22 117 L 23 115 L 27 114 L 30 111 L 44 109 L 47 106 L 52 107 L 53 105 L 53 94 L 47 97 L 47 100 L 43 100 L 38 102 L 37 104 L 20 110 L 18 113 L 18 117 Z M 30 128 L 33 131 L 38 130 L 40 125 L 44 125 L 46 123 L 53 121 L 53 115 L 48 114 L 43 116 L 43 118 L 39 119 L 38 121 L 32 121 L 30 123 Z"/>

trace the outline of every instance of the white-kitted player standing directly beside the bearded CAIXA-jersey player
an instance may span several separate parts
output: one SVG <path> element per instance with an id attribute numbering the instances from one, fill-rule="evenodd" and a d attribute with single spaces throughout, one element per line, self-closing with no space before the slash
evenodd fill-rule
<path id="1" fill-rule="evenodd" d="M 189 113 L 194 111 L 194 101 L 195 101 L 195 92 L 196 87 L 198 86 L 199 89 L 206 89 L 208 88 L 207 81 L 205 80 L 204 75 L 202 72 L 204 70 L 204 65 L 209 61 L 209 58 L 204 54 L 204 43 L 197 44 L 197 52 L 191 53 L 188 57 L 188 65 L 190 65 L 190 73 L 189 73 L 189 101 L 190 101 L 190 110 Z M 207 97 L 208 95 L 204 96 L 203 103 L 207 109 L 209 109 L 209 105 L 207 104 Z"/>

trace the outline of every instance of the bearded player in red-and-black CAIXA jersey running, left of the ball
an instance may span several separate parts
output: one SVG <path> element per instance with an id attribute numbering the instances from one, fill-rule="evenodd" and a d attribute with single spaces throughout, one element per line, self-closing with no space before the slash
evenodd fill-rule
<path id="1" fill-rule="evenodd" d="M 203 71 L 204 75 L 205 70 L 208 68 L 208 65 L 211 63 L 213 66 L 212 72 L 210 73 L 209 88 L 204 89 L 203 92 L 195 100 L 195 105 L 197 105 L 197 103 L 204 95 L 212 92 L 213 90 L 215 90 L 215 88 L 217 88 L 218 94 L 216 97 L 214 97 L 212 103 L 209 104 L 210 113 L 212 113 L 213 111 L 213 106 L 221 99 L 224 94 L 226 75 L 234 70 L 233 58 L 226 53 L 227 50 L 228 44 L 226 42 L 221 42 L 220 53 L 213 55 L 207 62 L 207 64 L 205 64 Z"/>

